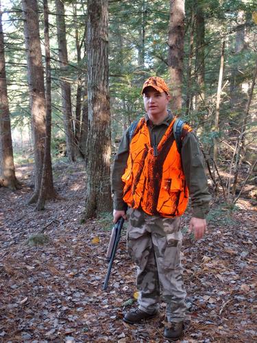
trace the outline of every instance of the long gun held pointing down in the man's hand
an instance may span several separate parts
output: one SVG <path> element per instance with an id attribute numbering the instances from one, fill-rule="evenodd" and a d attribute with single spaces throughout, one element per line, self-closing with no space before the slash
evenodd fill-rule
<path id="1" fill-rule="evenodd" d="M 117 250 L 119 239 L 121 237 L 121 229 L 122 229 L 123 223 L 124 223 L 124 218 L 120 217 L 117 223 L 112 228 L 112 235 L 110 236 L 110 243 L 109 243 L 108 250 L 106 253 L 106 259 L 109 261 L 109 265 L 108 265 L 108 271 L 106 274 L 106 279 L 103 284 L 103 290 L 106 290 L 106 288 L 108 287 L 110 271 L 112 270 L 112 263 L 115 257 L 115 252 Z"/>

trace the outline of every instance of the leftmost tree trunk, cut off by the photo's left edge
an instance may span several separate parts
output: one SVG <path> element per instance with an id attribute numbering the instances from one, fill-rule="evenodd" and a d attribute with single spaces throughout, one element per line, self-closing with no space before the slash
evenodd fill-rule
<path id="1" fill-rule="evenodd" d="M 1 186 L 9 187 L 12 190 L 21 188 L 21 184 L 15 176 L 14 156 L 12 152 L 12 134 L 5 73 L 2 8 L 0 1 L 0 187 Z"/>

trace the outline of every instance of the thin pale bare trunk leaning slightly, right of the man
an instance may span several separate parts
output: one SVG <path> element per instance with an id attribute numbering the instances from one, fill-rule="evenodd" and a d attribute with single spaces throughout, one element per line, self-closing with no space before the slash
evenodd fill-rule
<path id="1" fill-rule="evenodd" d="M 218 157 L 218 134 L 219 134 L 219 105 L 221 102 L 221 86 L 222 86 L 222 79 L 223 79 L 223 70 L 224 70 L 224 53 L 225 53 L 225 40 L 223 40 L 222 48 L 221 48 L 221 66 L 219 68 L 219 82 L 217 88 L 217 103 L 216 103 L 216 110 L 215 110 L 215 132 L 216 137 L 214 139 L 214 146 L 213 146 L 213 161 L 217 165 L 217 157 Z M 215 175 L 215 172 L 213 173 Z"/>

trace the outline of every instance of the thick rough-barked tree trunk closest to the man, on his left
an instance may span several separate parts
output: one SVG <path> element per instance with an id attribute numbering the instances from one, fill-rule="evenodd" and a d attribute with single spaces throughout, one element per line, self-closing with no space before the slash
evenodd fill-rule
<path id="1" fill-rule="evenodd" d="M 108 0 L 88 0 L 87 189 L 84 216 L 111 211 Z"/>

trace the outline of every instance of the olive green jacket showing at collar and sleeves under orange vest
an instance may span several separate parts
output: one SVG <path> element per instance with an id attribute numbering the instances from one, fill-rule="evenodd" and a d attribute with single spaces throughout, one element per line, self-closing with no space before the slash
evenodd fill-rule
<path id="1" fill-rule="evenodd" d="M 156 136 L 157 145 L 160 143 L 162 136 L 169 127 L 173 119 L 173 115 L 169 113 L 167 117 L 158 125 L 151 125 L 147 115 L 147 126 L 151 144 L 153 144 L 153 137 Z M 128 128 L 121 139 L 118 152 L 114 158 L 114 165 L 112 169 L 112 193 L 114 195 L 114 209 L 125 210 L 127 205 L 123 202 L 123 187 L 124 183 L 121 176 L 125 171 L 127 165 L 127 158 L 130 150 L 130 128 Z M 193 132 L 188 132 L 182 141 L 181 158 L 184 175 L 186 178 L 186 185 L 189 190 L 193 207 L 193 217 L 206 217 L 208 213 L 208 206 L 210 202 L 210 193 L 208 192 L 207 178 L 204 171 L 204 158 L 199 148 L 199 143 Z"/>

